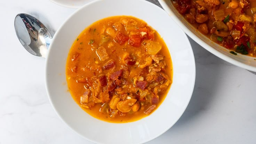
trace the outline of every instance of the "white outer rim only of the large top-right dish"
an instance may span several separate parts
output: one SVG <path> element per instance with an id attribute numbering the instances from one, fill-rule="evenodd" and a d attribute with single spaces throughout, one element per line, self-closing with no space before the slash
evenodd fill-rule
<path id="1" fill-rule="evenodd" d="M 173 13 L 173 11 L 169 9 L 168 5 L 165 2 L 166 0 L 158 0 L 158 1 L 161 4 L 161 6 L 163 7 L 163 9 L 165 9 L 166 12 L 169 14 L 169 16 L 171 18 L 173 18 L 173 20 L 179 25 L 179 27 L 181 27 L 182 30 L 185 31 L 185 33 L 187 35 L 189 35 L 189 37 L 191 39 L 193 39 L 195 42 L 197 42 L 200 46 L 202 46 L 203 48 L 205 48 L 206 50 L 208 50 L 210 53 L 214 54 L 215 56 L 223 59 L 224 61 L 227 61 L 227 62 L 229 62 L 229 63 L 231 63 L 233 65 L 239 66 L 239 67 L 241 67 L 243 69 L 256 72 L 256 67 L 255 66 L 250 66 L 250 65 L 244 64 L 242 62 L 239 62 L 236 59 L 233 59 L 231 57 L 227 57 L 225 54 L 223 54 L 223 53 L 219 52 L 218 50 L 216 50 L 216 49 L 212 48 L 211 46 L 209 46 L 206 42 L 204 42 L 199 37 L 197 37 L 197 35 L 195 35 L 193 32 L 191 32 L 189 30 L 189 28 L 187 28 L 179 20 L 179 18 Z"/>

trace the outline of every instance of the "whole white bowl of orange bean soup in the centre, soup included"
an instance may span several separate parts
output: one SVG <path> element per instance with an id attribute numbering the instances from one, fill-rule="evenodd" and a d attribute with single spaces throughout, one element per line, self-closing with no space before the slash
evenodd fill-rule
<path id="1" fill-rule="evenodd" d="M 88 3 L 58 29 L 46 58 L 56 113 L 94 143 L 160 136 L 185 111 L 194 82 L 185 33 L 144 0 Z"/>

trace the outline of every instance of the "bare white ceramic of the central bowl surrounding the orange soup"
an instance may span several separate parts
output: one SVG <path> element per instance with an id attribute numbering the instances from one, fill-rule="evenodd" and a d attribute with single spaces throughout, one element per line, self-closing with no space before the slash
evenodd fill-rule
<path id="1" fill-rule="evenodd" d="M 165 40 L 173 61 L 173 83 L 159 108 L 130 123 L 109 123 L 91 117 L 67 91 L 65 66 L 72 43 L 99 19 L 130 15 L 143 19 Z M 46 88 L 61 119 L 79 135 L 102 144 L 145 143 L 167 131 L 185 111 L 195 82 L 193 51 L 185 33 L 158 6 L 145 0 L 97 0 L 77 10 L 58 29 L 46 58 Z"/>

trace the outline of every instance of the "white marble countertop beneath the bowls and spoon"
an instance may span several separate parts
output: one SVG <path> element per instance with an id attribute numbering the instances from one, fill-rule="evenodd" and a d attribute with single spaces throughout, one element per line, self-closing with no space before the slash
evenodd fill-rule
<path id="1" fill-rule="evenodd" d="M 49 0 L 0 1 L 0 144 L 91 144 L 54 112 L 45 89 L 45 59 L 29 54 L 14 30 L 18 13 L 37 17 L 55 32 L 74 11 Z M 256 75 L 189 40 L 197 73 L 191 101 L 178 122 L 148 144 L 255 143 Z"/>

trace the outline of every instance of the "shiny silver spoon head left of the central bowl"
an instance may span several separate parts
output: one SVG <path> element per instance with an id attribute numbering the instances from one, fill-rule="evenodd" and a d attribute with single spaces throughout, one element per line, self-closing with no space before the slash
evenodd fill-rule
<path id="1" fill-rule="evenodd" d="M 14 27 L 19 41 L 29 53 L 46 57 L 52 37 L 40 21 L 28 14 L 18 14 Z"/>

